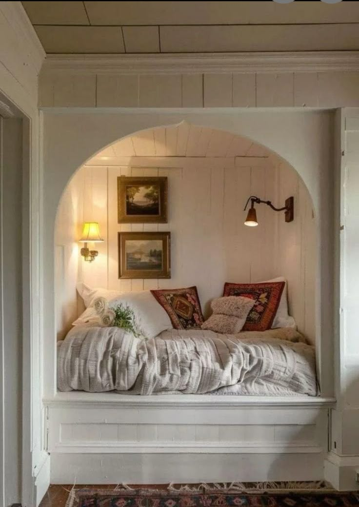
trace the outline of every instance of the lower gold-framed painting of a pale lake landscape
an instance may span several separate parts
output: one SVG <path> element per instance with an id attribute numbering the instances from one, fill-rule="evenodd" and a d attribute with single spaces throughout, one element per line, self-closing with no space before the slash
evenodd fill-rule
<path id="1" fill-rule="evenodd" d="M 170 278 L 170 232 L 119 232 L 119 278 Z"/>

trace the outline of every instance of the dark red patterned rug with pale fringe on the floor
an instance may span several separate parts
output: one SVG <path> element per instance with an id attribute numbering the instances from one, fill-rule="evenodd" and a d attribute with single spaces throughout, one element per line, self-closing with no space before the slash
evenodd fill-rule
<path id="1" fill-rule="evenodd" d="M 359 507 L 359 492 L 240 489 L 188 490 L 77 490 L 79 507 Z"/>

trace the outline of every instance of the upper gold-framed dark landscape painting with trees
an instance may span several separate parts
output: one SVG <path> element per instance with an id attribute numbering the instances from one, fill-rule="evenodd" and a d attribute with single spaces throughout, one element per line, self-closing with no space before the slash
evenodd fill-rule
<path id="1" fill-rule="evenodd" d="M 167 177 L 117 178 L 118 223 L 167 224 Z"/>

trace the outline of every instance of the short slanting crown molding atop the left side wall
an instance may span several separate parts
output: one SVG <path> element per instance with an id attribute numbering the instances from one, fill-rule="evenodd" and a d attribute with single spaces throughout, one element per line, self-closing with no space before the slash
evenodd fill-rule
<path id="1" fill-rule="evenodd" d="M 19 38 L 26 41 L 28 53 L 32 63 L 40 73 L 40 69 L 46 57 L 45 50 L 35 32 L 26 11 L 21 2 L 1 2 L 0 11 L 9 21 L 9 24 L 16 27 Z"/>

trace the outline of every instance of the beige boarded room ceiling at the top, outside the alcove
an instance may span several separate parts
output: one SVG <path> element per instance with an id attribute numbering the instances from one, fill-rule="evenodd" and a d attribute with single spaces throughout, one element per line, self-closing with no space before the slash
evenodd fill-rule
<path id="1" fill-rule="evenodd" d="M 22 2 L 47 53 L 359 50 L 359 2 Z"/>

